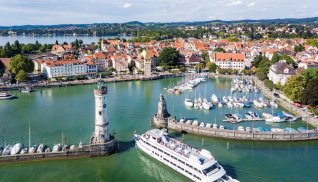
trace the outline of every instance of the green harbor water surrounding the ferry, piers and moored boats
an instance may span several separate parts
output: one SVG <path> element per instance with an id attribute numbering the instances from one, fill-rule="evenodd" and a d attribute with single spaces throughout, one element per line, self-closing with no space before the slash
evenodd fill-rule
<path id="1" fill-rule="evenodd" d="M 130 81 L 106 83 L 108 86 L 108 115 L 111 131 L 122 143 L 121 152 L 102 158 L 53 160 L 0 165 L 0 181 L 189 181 L 172 169 L 153 160 L 134 147 L 134 131 L 141 134 L 150 129 L 149 120 L 157 110 L 159 94 L 175 84 L 179 78 L 156 81 Z M 41 140 L 52 146 L 61 142 L 76 144 L 82 138 L 88 142 L 94 130 L 95 85 L 43 89 L 30 94 L 13 92 L 18 99 L 0 102 L 0 136 L 2 142 L 28 143 L 28 126 L 31 123 L 32 143 Z M 245 113 L 247 109 L 213 109 L 195 111 L 186 109 L 185 97 L 204 97 L 230 94 L 231 80 L 210 79 L 193 91 L 180 96 L 164 94 L 168 111 L 179 117 L 197 118 L 237 127 L 222 121 L 225 113 Z M 205 91 L 206 90 L 206 91 Z M 250 94 L 248 97 L 259 97 Z M 263 112 L 251 108 L 258 113 Z M 280 109 L 278 109 L 280 110 Z M 265 109 L 270 112 L 270 109 Z M 240 125 L 251 126 L 252 123 Z M 275 127 L 306 127 L 301 121 L 279 124 Z M 255 126 L 271 127 L 264 122 Z M 170 133 L 181 139 L 178 133 Z M 247 142 L 185 135 L 184 141 L 204 148 L 224 166 L 225 170 L 242 182 L 255 181 L 316 181 L 318 141 L 308 142 Z M 0 142 L 0 145 L 2 145 Z"/>

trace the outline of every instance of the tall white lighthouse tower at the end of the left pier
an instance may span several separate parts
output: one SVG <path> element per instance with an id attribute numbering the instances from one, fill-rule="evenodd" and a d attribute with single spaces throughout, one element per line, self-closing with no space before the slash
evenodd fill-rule
<path id="1" fill-rule="evenodd" d="M 91 138 L 91 144 L 102 144 L 109 141 L 108 118 L 106 112 L 107 87 L 99 80 L 94 89 L 95 95 L 95 133 Z"/>

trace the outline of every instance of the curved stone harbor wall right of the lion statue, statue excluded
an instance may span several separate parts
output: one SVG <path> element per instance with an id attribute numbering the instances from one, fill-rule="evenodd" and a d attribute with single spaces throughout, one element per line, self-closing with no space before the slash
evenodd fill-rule
<path id="1" fill-rule="evenodd" d="M 317 140 L 318 130 L 308 130 L 307 132 L 293 133 L 275 133 L 275 132 L 247 132 L 238 130 L 207 128 L 200 126 L 192 126 L 185 123 L 177 123 L 168 121 L 168 129 L 190 133 L 194 135 L 202 135 L 208 137 L 227 138 L 235 140 L 257 140 L 257 141 L 302 141 Z"/>

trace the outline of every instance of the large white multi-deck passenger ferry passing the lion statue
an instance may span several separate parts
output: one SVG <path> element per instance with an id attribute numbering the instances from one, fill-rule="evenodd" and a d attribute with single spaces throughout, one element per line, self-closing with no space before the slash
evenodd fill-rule
<path id="1" fill-rule="evenodd" d="M 238 182 L 205 149 L 196 149 L 167 136 L 165 130 L 152 129 L 134 135 L 136 147 L 192 181 Z"/>

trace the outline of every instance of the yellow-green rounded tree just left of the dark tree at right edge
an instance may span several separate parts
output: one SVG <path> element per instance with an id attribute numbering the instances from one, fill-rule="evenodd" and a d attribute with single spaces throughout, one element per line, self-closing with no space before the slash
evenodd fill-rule
<path id="1" fill-rule="evenodd" d="M 306 81 L 301 75 L 291 76 L 283 87 L 283 92 L 290 100 L 301 102 L 305 85 Z"/>

